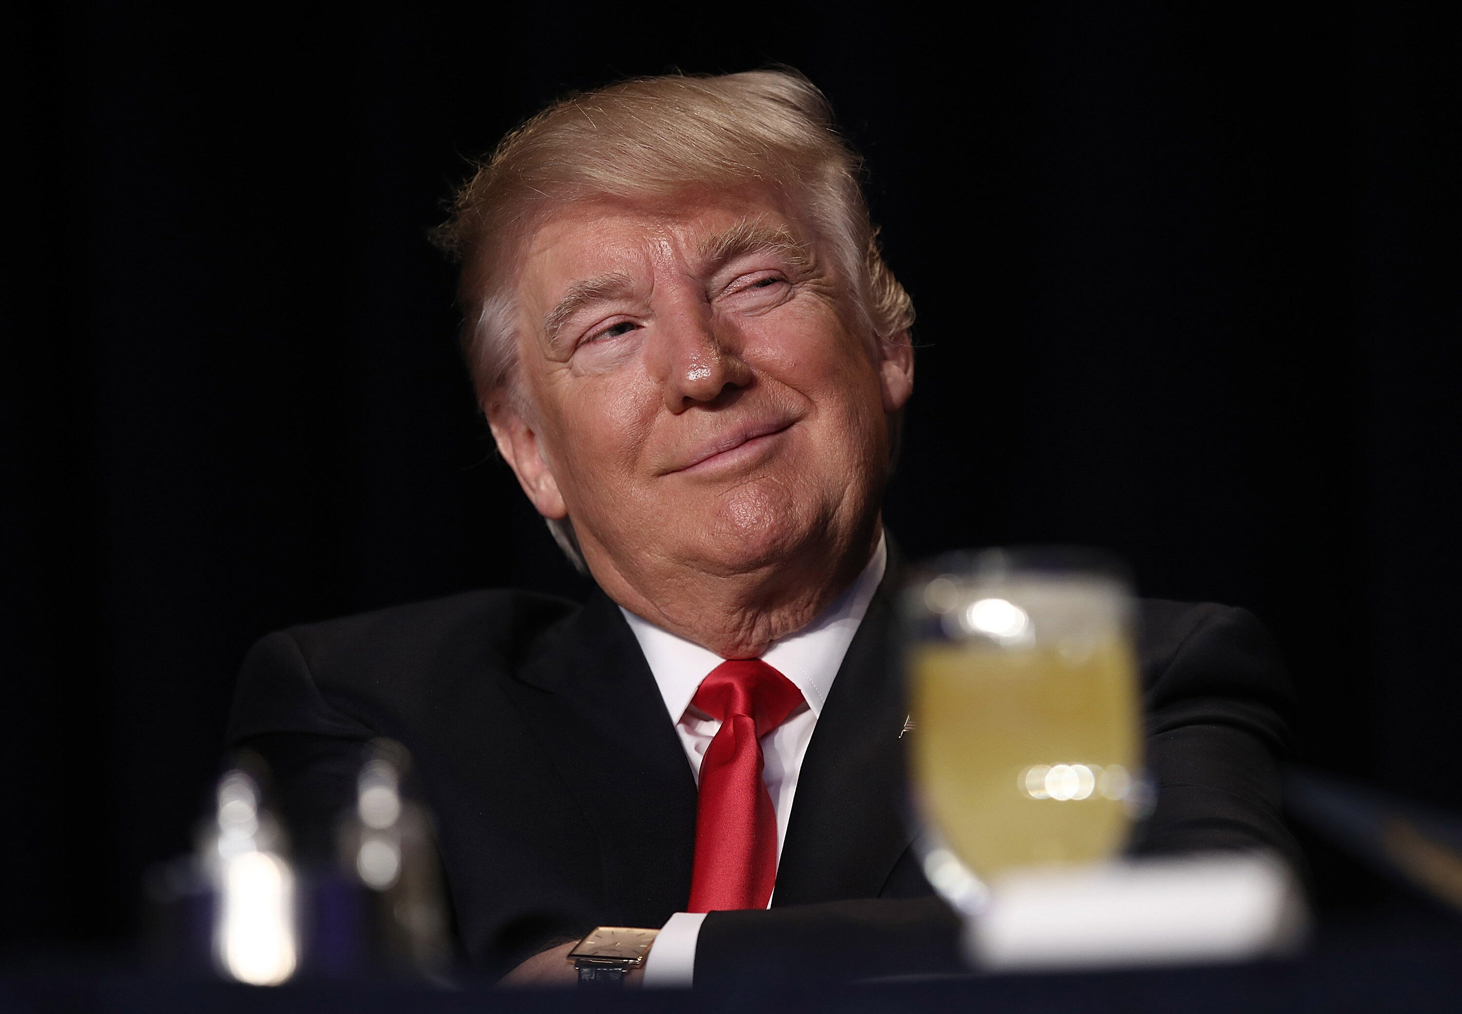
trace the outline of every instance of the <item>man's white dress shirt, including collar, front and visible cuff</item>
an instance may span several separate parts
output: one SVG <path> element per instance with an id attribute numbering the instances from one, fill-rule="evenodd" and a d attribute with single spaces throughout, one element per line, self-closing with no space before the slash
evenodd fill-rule
<path id="1" fill-rule="evenodd" d="M 762 660 L 787 676 L 803 692 L 803 704 L 781 726 L 762 736 L 762 780 L 772 796 L 776 811 L 776 856 L 782 856 L 782 841 L 787 838 L 787 821 L 792 815 L 792 797 L 797 795 L 797 775 L 807 754 L 807 743 L 817 726 L 827 692 L 842 666 L 842 657 L 858 632 L 863 615 L 868 612 L 873 593 L 883 579 L 887 565 L 887 549 L 883 538 L 873 552 L 868 565 L 858 579 L 825 609 L 817 619 L 797 634 L 776 641 Z M 686 748 L 690 770 L 700 778 L 700 761 L 711 746 L 721 723 L 694 707 L 690 701 L 700 682 L 719 666 L 724 658 L 686 641 L 635 613 L 621 609 L 645 661 L 655 676 L 665 710 L 675 723 L 680 743 Z M 696 939 L 700 935 L 703 913 L 677 912 L 661 928 L 649 957 L 645 960 L 645 986 L 689 986 L 696 964 Z"/>

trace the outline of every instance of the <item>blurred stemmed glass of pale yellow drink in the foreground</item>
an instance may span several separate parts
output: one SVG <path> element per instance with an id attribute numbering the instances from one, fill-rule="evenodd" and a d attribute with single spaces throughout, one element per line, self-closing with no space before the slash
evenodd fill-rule
<path id="1" fill-rule="evenodd" d="M 1079 549 L 949 555 L 905 588 L 902 619 L 936 890 L 972 913 L 1007 871 L 1120 852 L 1142 762 L 1120 563 Z"/>

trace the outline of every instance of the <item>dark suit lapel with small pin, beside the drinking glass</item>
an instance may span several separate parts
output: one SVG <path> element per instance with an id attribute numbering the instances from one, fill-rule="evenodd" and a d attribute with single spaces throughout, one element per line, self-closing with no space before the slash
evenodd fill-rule
<path id="1" fill-rule="evenodd" d="M 877 897 L 912 840 L 899 739 L 908 708 L 893 656 L 901 584 L 890 543 L 883 581 L 803 758 L 773 906 Z"/>

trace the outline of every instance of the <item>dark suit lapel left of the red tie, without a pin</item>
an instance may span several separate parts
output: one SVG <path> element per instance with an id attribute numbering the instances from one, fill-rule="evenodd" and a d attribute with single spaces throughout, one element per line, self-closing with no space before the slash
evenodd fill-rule
<path id="1" fill-rule="evenodd" d="M 696 783 L 645 656 L 598 588 L 551 628 L 510 694 L 594 828 L 604 920 L 658 926 L 684 910 Z M 531 815 L 525 815 L 531 819 Z"/>

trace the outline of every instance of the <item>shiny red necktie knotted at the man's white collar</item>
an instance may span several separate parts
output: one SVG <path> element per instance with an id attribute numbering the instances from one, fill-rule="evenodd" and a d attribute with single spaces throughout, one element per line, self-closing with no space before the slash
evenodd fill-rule
<path id="1" fill-rule="evenodd" d="M 760 658 L 722 661 L 692 699 L 721 729 L 700 761 L 690 912 L 765 909 L 776 884 L 776 811 L 762 781 L 762 739 L 803 692 Z"/>

